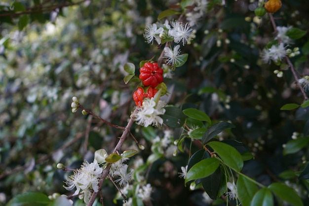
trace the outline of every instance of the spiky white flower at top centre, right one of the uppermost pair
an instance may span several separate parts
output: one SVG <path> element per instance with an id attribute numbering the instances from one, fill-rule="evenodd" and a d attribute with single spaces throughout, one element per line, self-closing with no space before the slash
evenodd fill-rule
<path id="1" fill-rule="evenodd" d="M 182 41 L 183 45 L 185 45 L 185 43 L 190 40 L 192 35 L 192 29 L 190 28 L 189 24 L 186 23 L 185 26 L 183 26 L 182 22 L 179 23 L 178 21 L 174 21 L 171 22 L 171 25 L 173 29 L 169 30 L 169 35 L 174 37 L 174 41 L 176 43 Z"/>

